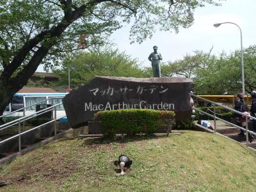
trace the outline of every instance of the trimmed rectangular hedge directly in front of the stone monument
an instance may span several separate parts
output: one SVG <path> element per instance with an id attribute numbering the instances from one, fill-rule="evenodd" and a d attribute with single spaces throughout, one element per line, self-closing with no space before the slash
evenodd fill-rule
<path id="1" fill-rule="evenodd" d="M 114 136 L 118 132 L 131 135 L 150 134 L 161 127 L 170 127 L 174 122 L 174 112 L 154 109 L 99 111 L 94 115 L 94 121 L 100 122 L 102 132 L 106 136 Z"/>

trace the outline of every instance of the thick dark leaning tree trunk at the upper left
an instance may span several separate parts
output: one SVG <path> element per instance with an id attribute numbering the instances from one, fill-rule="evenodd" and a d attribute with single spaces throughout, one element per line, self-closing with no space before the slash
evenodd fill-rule
<path id="1" fill-rule="evenodd" d="M 63 20 L 61 20 L 61 22 L 57 26 L 53 26 L 49 31 L 44 31 L 38 34 L 32 40 L 26 42 L 22 49 L 20 49 L 20 51 L 13 58 L 12 63 L 10 63 L 8 67 L 4 68 L 0 76 L 0 116 L 3 115 L 4 109 L 10 103 L 13 95 L 19 92 L 19 90 L 27 84 L 28 79 L 35 73 L 37 67 L 40 65 L 44 57 L 48 54 L 49 49 L 51 49 L 51 47 L 56 44 L 55 38 L 60 37 L 65 29 L 67 29 L 67 27 L 70 26 L 70 24 L 72 24 L 74 20 L 81 17 L 85 12 L 85 4 L 72 12 L 72 4 L 70 4 L 72 3 L 72 1 L 68 2 L 69 3 L 64 4 L 65 16 L 63 17 Z M 101 1 L 95 3 L 100 2 Z M 35 45 L 38 45 L 38 43 L 44 39 L 45 35 L 50 36 L 49 44 L 41 45 L 41 47 L 32 56 L 31 60 L 24 66 L 24 68 L 20 72 L 17 72 L 16 76 L 13 76 L 13 74 L 15 74 L 15 70 L 19 68 L 19 66 L 26 58 L 26 55 L 31 51 L 33 47 L 35 47 Z M 0 124 L 1 122 L 3 123 L 0 118 Z"/>

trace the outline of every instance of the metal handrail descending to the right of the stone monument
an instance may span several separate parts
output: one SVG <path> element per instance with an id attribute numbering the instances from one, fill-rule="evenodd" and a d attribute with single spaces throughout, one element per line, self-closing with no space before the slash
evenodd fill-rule
<path id="1" fill-rule="evenodd" d="M 202 110 L 197 109 L 197 108 L 195 108 L 195 110 L 196 110 L 196 111 L 199 111 L 200 113 L 203 113 L 204 115 L 210 116 L 211 118 L 214 119 L 214 132 L 217 132 L 216 120 L 221 120 L 222 122 L 225 122 L 225 123 L 228 124 L 228 125 L 232 125 L 232 126 L 234 126 L 234 127 L 237 127 L 238 129 L 241 129 L 241 130 L 243 130 L 243 131 L 246 131 L 246 145 L 247 145 L 247 146 L 249 145 L 249 136 L 248 136 L 248 133 L 253 134 L 253 135 L 256 136 L 256 133 L 255 133 L 255 132 L 248 130 L 248 119 L 256 120 L 255 117 L 253 117 L 253 116 L 251 116 L 251 115 L 246 115 L 246 114 L 244 114 L 244 113 L 241 113 L 241 112 L 239 112 L 239 111 L 236 111 L 235 109 L 228 108 L 228 107 L 226 107 L 226 106 L 223 106 L 223 105 L 218 104 L 218 103 L 216 103 L 216 102 L 213 102 L 213 101 L 211 101 L 211 100 L 204 99 L 204 98 L 199 97 L 199 96 L 197 96 L 197 95 L 195 95 L 195 94 L 193 94 L 193 93 L 189 93 L 189 94 L 191 95 L 191 97 L 195 97 L 196 99 L 204 100 L 205 102 L 209 102 L 209 103 L 212 104 L 212 106 L 213 106 L 213 115 L 211 115 L 211 114 L 209 114 L 209 113 L 206 113 L 205 111 L 202 111 Z M 227 109 L 228 111 L 232 111 L 233 113 L 237 113 L 237 114 L 239 114 L 239 115 L 245 116 L 245 118 L 246 118 L 246 129 L 244 129 L 243 127 L 240 127 L 239 125 L 232 124 L 231 122 L 228 122 L 227 120 L 223 120 L 222 118 L 219 118 L 218 116 L 216 116 L 216 106 L 220 106 L 220 107 L 222 107 L 222 108 Z"/>

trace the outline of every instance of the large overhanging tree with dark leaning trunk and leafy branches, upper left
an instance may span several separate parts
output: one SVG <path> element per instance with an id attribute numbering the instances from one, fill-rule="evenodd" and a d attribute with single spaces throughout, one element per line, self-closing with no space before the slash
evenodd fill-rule
<path id="1" fill-rule="evenodd" d="M 216 1 L 1 0 L 0 115 L 40 63 L 58 65 L 65 52 L 102 43 L 129 22 L 131 42 L 142 42 L 157 28 L 178 32 L 191 26 L 195 8 Z"/>

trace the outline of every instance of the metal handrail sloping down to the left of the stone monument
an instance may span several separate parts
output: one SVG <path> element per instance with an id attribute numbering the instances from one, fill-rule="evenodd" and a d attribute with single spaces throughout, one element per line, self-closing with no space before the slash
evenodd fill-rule
<path id="1" fill-rule="evenodd" d="M 8 127 L 11 127 L 13 125 L 17 125 L 19 124 L 19 134 L 16 134 L 15 136 L 11 136 L 10 138 L 7 138 L 3 141 L 0 141 L 0 145 L 2 143 L 5 143 L 6 141 L 9 141 L 9 140 L 12 140 L 13 138 L 17 138 L 19 137 L 19 152 L 21 150 L 21 136 L 23 134 L 26 134 L 27 132 L 30 132 L 30 131 L 33 131 L 35 129 L 38 129 L 40 127 L 43 127 L 44 125 L 47 125 L 47 124 L 51 124 L 52 122 L 54 122 L 54 136 L 57 135 L 57 130 L 56 130 L 56 123 L 57 123 L 57 120 L 60 120 L 61 118 L 64 118 L 66 116 L 62 116 L 60 118 L 57 118 L 56 116 L 56 113 L 57 113 L 57 106 L 60 106 L 62 104 L 62 102 L 60 104 L 56 104 L 54 106 L 50 106 L 49 108 L 45 108 L 45 109 L 42 109 L 41 111 L 37 111 L 31 115 L 28 115 L 28 116 L 22 116 L 21 118 L 18 118 L 17 120 L 13 120 L 12 122 L 8 122 L 7 124 L 3 124 L 0 126 L 0 131 L 3 130 L 3 129 L 6 129 Z M 38 125 L 37 127 L 33 127 L 32 129 L 29 129 L 28 131 L 24 131 L 24 132 L 21 132 L 21 123 L 26 121 L 26 120 L 29 120 L 30 118 L 33 118 L 35 116 L 38 116 L 38 115 L 42 115 L 44 113 L 47 113 L 49 111 L 54 111 L 54 116 L 52 120 L 50 120 L 49 122 L 46 122 L 45 124 L 42 124 L 42 125 Z"/>

